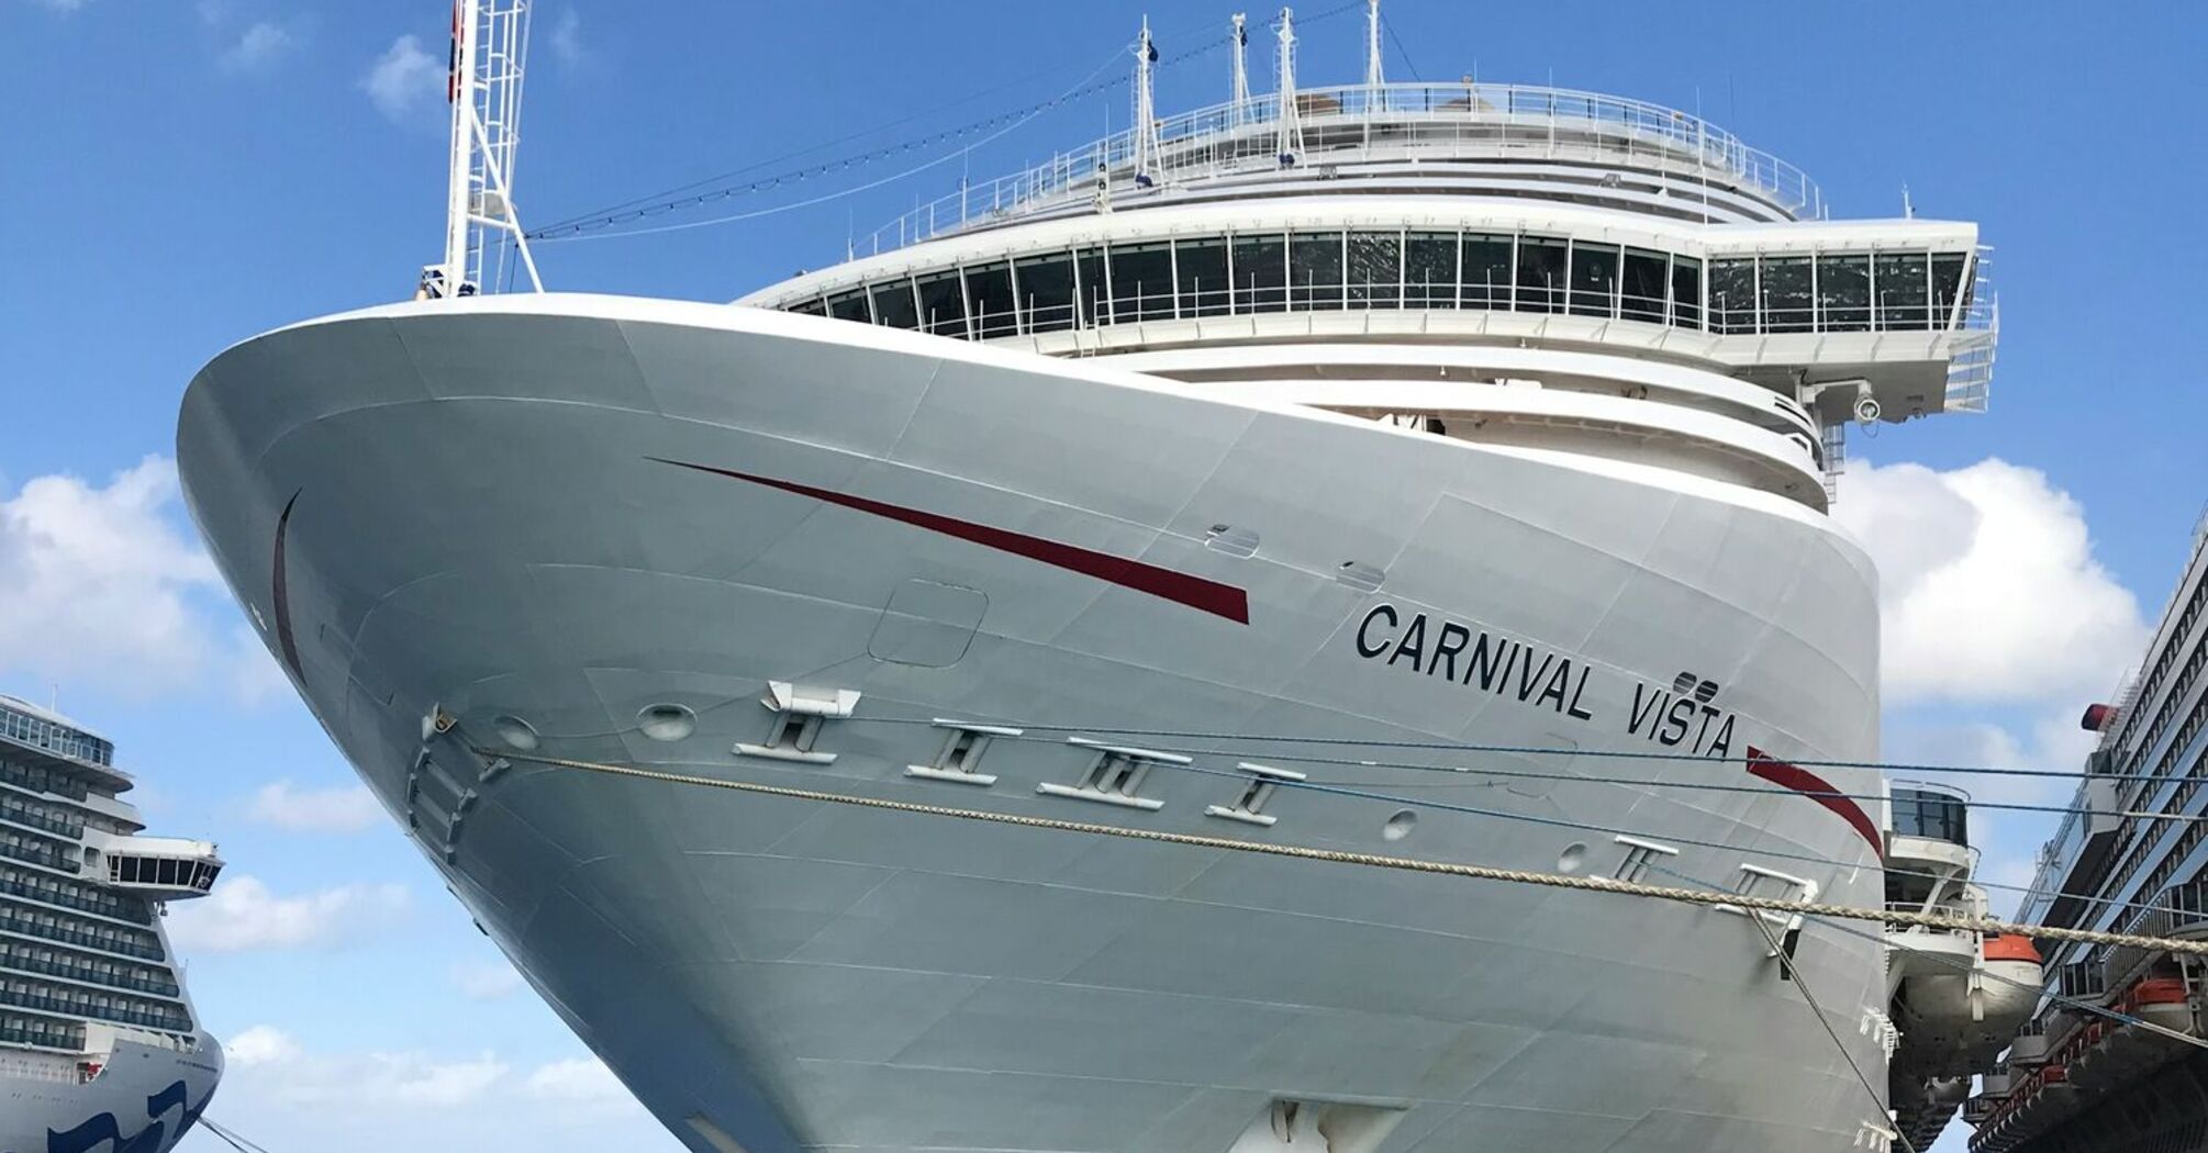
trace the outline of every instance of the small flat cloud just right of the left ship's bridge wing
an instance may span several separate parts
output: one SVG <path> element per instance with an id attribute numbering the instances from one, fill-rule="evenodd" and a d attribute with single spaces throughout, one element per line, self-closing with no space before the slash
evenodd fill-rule
<path id="1" fill-rule="evenodd" d="M 174 906 L 177 948 L 205 952 L 336 945 L 406 914 L 404 886 L 338 886 L 278 897 L 258 877 L 225 877 L 214 892 Z"/>

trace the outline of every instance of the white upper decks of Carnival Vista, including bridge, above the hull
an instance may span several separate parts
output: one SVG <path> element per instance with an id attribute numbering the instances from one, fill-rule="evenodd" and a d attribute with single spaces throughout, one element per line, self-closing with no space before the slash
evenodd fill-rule
<path id="1" fill-rule="evenodd" d="M 1985 409 L 1998 309 L 1976 225 L 1835 221 L 1800 168 L 1656 104 L 1296 88 L 1289 44 L 1272 95 L 1137 115 L 740 303 L 1813 508 L 1846 424 Z"/>

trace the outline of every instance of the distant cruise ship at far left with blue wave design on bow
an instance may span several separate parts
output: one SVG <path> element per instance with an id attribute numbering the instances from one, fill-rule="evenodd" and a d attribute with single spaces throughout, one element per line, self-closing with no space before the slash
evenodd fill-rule
<path id="1" fill-rule="evenodd" d="M 106 738 L 0 696 L 7 1153 L 163 1153 L 223 1076 L 161 928 L 223 861 L 208 842 L 139 835 L 128 789 Z"/>

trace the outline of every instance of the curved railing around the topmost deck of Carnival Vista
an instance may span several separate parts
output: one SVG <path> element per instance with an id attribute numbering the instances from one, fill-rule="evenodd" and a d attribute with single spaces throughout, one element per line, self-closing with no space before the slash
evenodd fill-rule
<path id="1" fill-rule="evenodd" d="M 1345 84 L 1296 93 L 1296 121 L 1305 152 L 1283 159 L 1276 146 L 1278 95 L 1248 104 L 1214 104 L 1157 121 L 1159 159 L 1142 181 L 1190 183 L 1283 163 L 1312 168 L 1342 159 L 1395 155 L 1497 155 L 1623 159 L 1660 166 L 1700 181 L 1738 186 L 1797 219 L 1822 216 L 1824 194 L 1800 168 L 1755 148 L 1709 121 L 1599 93 L 1526 84 Z M 1338 128 L 1362 128 L 1356 139 Z M 892 252 L 978 223 L 1000 223 L 1062 208 L 1108 186 L 1115 197 L 1139 194 L 1135 130 L 1062 152 L 1047 163 L 969 183 L 916 205 L 874 230 L 854 247 Z"/>

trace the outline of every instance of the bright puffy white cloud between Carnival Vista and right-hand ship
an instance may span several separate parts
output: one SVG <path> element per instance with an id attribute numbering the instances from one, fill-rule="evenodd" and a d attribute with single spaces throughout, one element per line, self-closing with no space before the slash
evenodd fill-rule
<path id="1" fill-rule="evenodd" d="M 2036 468 L 1850 462 L 1833 515 L 1879 563 L 1888 702 L 2082 702 L 2146 645 L 2084 510 Z"/>

